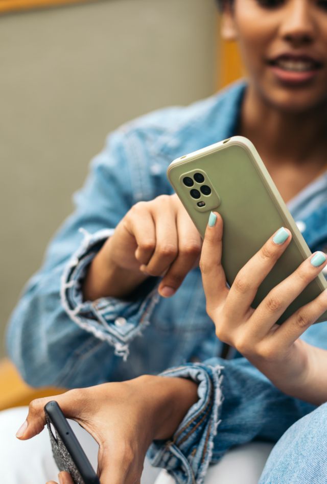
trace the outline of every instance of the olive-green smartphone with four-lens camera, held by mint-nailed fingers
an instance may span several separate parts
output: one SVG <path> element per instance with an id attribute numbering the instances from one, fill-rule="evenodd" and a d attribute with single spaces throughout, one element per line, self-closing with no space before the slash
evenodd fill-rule
<path id="1" fill-rule="evenodd" d="M 221 214 L 224 222 L 222 266 L 229 286 L 279 227 L 291 231 L 291 243 L 261 283 L 251 304 L 253 308 L 310 256 L 305 239 L 249 139 L 233 136 L 181 156 L 169 165 L 167 175 L 202 239 L 210 212 L 215 210 Z M 277 323 L 282 324 L 325 288 L 327 282 L 320 273 Z M 316 322 L 322 321 L 327 321 L 327 311 Z"/>

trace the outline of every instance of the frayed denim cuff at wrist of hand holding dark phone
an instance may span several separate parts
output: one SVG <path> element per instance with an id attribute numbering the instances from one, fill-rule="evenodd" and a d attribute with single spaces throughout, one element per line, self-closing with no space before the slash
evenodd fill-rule
<path id="1" fill-rule="evenodd" d="M 161 376 L 189 378 L 198 385 L 199 400 L 190 408 L 171 441 L 154 441 L 148 457 L 165 468 L 178 484 L 202 484 L 211 462 L 222 404 L 221 366 L 186 364 Z"/>

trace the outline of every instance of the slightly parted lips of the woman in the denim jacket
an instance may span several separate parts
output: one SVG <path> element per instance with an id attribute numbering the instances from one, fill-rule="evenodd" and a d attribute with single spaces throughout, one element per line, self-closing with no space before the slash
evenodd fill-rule
<path id="1" fill-rule="evenodd" d="M 312 69 L 306 71 L 286 70 L 276 65 L 276 62 L 281 59 L 291 61 L 309 61 L 312 63 Z M 293 52 L 284 52 L 273 58 L 270 58 L 267 61 L 267 64 L 279 81 L 294 86 L 312 81 L 318 75 L 319 70 L 323 67 L 323 63 L 320 61 L 320 59 L 318 59 L 318 57 L 304 52 L 297 52 L 296 54 Z"/>

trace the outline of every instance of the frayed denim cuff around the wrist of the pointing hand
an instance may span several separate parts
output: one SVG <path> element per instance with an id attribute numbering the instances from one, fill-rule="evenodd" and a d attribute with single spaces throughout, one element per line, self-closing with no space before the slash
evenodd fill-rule
<path id="1" fill-rule="evenodd" d="M 86 270 L 114 229 L 89 234 L 80 229 L 84 240 L 67 263 L 61 280 L 61 303 L 79 327 L 107 341 L 114 353 L 124 360 L 129 354 L 129 343 L 149 324 L 149 318 L 159 300 L 157 287 L 160 279 L 151 277 L 142 284 L 133 301 L 105 297 L 83 301 L 81 285 Z"/>

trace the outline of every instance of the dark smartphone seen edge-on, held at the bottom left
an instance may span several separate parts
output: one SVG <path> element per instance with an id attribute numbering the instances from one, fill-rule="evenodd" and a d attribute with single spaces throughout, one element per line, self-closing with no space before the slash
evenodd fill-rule
<path id="1" fill-rule="evenodd" d="M 100 484 L 99 477 L 58 403 L 48 402 L 44 406 L 44 412 L 58 469 L 69 472 L 76 484 Z"/>

